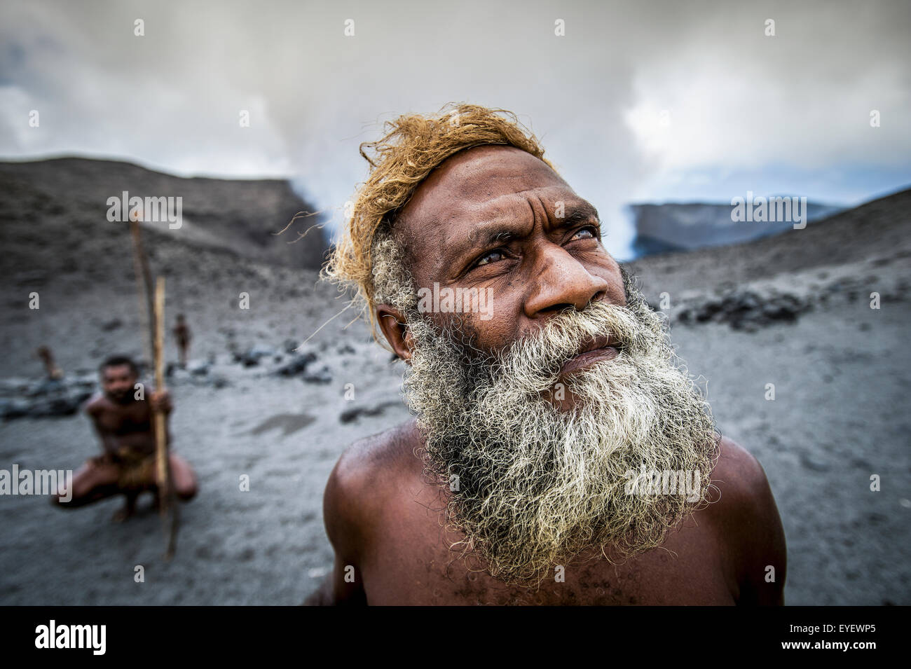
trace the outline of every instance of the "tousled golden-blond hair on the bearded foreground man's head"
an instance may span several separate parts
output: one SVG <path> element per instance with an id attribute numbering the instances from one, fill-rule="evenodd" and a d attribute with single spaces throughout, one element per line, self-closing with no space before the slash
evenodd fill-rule
<path id="1" fill-rule="evenodd" d="M 354 197 L 352 217 L 322 269 L 322 277 L 342 289 L 353 289 L 353 306 L 366 313 L 374 339 L 374 307 L 390 301 L 399 306 L 410 283 L 392 238 L 396 216 L 418 185 L 446 158 L 466 148 L 485 145 L 517 147 L 545 162 L 537 138 L 506 109 L 450 103 L 433 115 L 404 114 L 384 124 L 385 135 L 363 142 L 361 155 L 370 163 L 367 180 Z M 368 155 L 371 154 L 371 155 Z M 380 256 L 379 258 L 377 256 Z"/>

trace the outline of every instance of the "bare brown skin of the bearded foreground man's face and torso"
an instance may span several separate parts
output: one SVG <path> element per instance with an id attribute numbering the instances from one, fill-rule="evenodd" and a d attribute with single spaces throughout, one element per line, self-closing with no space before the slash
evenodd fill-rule
<path id="1" fill-rule="evenodd" d="M 477 346 L 499 349 L 563 309 L 599 299 L 625 304 L 597 216 L 536 157 L 474 147 L 422 182 L 395 229 L 418 288 L 436 281 L 441 289 L 492 290 L 492 319 L 463 318 Z M 380 304 L 376 316 L 396 355 L 410 360 L 414 343 L 402 314 Z M 575 399 L 564 401 L 571 408 Z M 323 499 L 333 573 L 307 603 L 783 603 L 778 510 L 762 466 L 730 439 L 720 441 L 712 473 L 718 502 L 684 519 L 657 549 L 610 563 L 592 547 L 563 565 L 565 582 L 548 577 L 539 589 L 507 586 L 449 550 L 463 537 L 443 529 L 445 490 L 422 476 L 421 446 L 408 421 L 344 452 Z M 770 565 L 773 582 L 766 581 Z"/>

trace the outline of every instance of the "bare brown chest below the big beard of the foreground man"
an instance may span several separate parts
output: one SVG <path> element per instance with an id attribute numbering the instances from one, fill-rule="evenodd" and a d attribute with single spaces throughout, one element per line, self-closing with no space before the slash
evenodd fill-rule
<path id="1" fill-rule="evenodd" d="M 361 565 L 368 603 L 416 605 L 733 604 L 737 585 L 711 523 L 691 518 L 658 549 L 610 563 L 594 550 L 555 564 L 537 588 L 507 586 L 449 546 L 439 512 L 386 507 Z M 396 508 L 397 507 L 397 508 Z M 698 515 L 698 514 L 697 514 Z M 457 538 L 457 537 L 456 537 Z"/>

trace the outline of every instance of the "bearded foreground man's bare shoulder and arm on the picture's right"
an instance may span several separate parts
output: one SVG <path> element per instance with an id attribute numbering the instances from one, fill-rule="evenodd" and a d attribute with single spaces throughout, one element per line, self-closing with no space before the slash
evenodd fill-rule
<path id="1" fill-rule="evenodd" d="M 749 451 L 726 437 L 719 445 L 711 515 L 741 584 L 741 601 L 783 603 L 787 551 L 772 488 Z"/>

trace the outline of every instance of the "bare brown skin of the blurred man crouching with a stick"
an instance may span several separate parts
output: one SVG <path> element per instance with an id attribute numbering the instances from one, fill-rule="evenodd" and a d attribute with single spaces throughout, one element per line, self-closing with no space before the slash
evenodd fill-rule
<path id="1" fill-rule="evenodd" d="M 101 450 L 118 453 L 121 449 L 137 455 L 152 455 L 155 452 L 155 427 L 152 411 L 163 411 L 166 416 L 172 410 L 167 390 L 150 393 L 148 400 L 135 399 L 135 384 L 138 377 L 129 365 L 115 365 L 101 370 L 102 393 L 89 400 L 86 413 L 95 425 Z M 178 455 L 169 455 L 175 492 L 179 499 L 189 500 L 197 491 L 196 475 L 189 463 Z M 56 503 L 61 508 L 75 508 L 106 499 L 112 495 L 124 494 L 124 508 L 115 513 L 114 521 L 127 520 L 136 512 L 136 501 L 142 490 L 122 490 L 118 485 L 120 470 L 110 462 L 87 461 L 73 476 L 72 500 L 63 502 L 58 495 Z M 158 474 L 149 479 L 144 490 L 158 492 Z"/>

